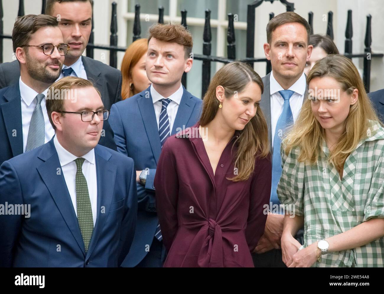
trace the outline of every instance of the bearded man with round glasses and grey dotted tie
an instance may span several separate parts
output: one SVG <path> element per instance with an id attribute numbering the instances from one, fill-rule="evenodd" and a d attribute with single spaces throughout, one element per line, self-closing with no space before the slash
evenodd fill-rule
<path id="1" fill-rule="evenodd" d="M 55 134 L 45 107 L 48 87 L 61 74 L 71 50 L 56 18 L 25 15 L 12 31 L 13 51 L 20 63 L 17 83 L 0 90 L 0 165 L 45 144 Z M 116 150 L 113 132 L 104 124 L 99 144 Z"/>

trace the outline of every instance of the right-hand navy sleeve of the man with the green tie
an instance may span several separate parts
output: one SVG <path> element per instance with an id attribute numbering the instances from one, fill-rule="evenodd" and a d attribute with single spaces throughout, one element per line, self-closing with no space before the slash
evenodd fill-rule
<path id="1" fill-rule="evenodd" d="M 124 258 L 131 248 L 133 236 L 135 235 L 136 221 L 137 221 L 137 191 L 136 191 L 136 171 L 133 160 L 131 162 L 131 177 L 127 182 L 127 197 L 125 203 L 124 217 L 121 222 L 120 233 L 120 255 L 118 265 L 124 261 Z"/>

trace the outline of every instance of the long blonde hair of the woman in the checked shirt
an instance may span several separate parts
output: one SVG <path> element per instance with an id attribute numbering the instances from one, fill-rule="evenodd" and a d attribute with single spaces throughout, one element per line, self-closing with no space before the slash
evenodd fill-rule
<path id="1" fill-rule="evenodd" d="M 307 84 L 313 78 L 324 76 L 334 78 L 341 84 L 342 90 L 348 94 L 352 94 L 354 89 L 359 91 L 358 100 L 350 106 L 344 132 L 330 151 L 328 158 L 331 164 L 338 170 L 342 170 L 345 160 L 356 148 L 358 142 L 367 137 L 369 120 L 381 122 L 367 96 L 359 72 L 350 59 L 342 55 L 328 55 L 320 59 L 309 72 Z M 306 99 L 292 130 L 283 140 L 285 154 L 288 155 L 293 147 L 299 147 L 298 161 L 315 164 L 321 155 L 321 142 L 324 139 L 324 129 L 314 117 L 311 100 Z"/>

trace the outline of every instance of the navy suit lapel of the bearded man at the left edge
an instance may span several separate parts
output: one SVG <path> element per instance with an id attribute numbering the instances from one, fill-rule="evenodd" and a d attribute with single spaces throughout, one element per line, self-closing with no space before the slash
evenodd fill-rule
<path id="1" fill-rule="evenodd" d="M 23 153 L 22 106 L 19 84 L 14 84 L 4 93 L 8 102 L 2 104 L 4 124 L 13 157 Z M 16 132 L 15 132 L 16 131 Z"/>

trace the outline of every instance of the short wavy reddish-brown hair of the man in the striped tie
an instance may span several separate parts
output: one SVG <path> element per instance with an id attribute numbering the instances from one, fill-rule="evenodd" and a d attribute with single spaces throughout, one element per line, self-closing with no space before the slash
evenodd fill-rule
<path id="1" fill-rule="evenodd" d="M 193 46 L 192 35 L 182 25 L 163 25 L 161 23 L 156 23 L 149 28 L 148 43 L 151 38 L 155 38 L 159 41 L 183 45 L 185 58 L 190 57 Z"/>

